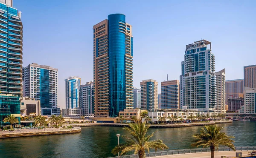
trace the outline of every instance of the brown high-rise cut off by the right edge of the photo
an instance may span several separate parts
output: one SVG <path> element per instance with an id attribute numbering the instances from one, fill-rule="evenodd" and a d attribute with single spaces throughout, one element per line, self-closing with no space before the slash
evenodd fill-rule
<path id="1" fill-rule="evenodd" d="M 244 86 L 256 88 L 256 65 L 244 66 Z"/>

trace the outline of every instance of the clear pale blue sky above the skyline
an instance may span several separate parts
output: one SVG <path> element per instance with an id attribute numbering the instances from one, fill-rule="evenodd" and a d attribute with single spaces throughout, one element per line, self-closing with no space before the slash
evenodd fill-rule
<path id="1" fill-rule="evenodd" d="M 23 66 L 58 68 L 58 106 L 65 107 L 65 82 L 77 75 L 93 80 L 93 25 L 123 13 L 133 26 L 134 86 L 140 81 L 179 79 L 187 44 L 212 42 L 216 71 L 243 78 L 256 64 L 254 0 L 14 0 L 22 11 Z"/>

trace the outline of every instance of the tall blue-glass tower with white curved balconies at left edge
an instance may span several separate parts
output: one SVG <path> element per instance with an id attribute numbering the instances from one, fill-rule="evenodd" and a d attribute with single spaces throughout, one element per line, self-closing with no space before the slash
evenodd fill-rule
<path id="1" fill-rule="evenodd" d="M 22 96 L 21 12 L 12 7 L 12 0 L 0 0 L 0 122 L 7 115 L 20 119 Z"/>

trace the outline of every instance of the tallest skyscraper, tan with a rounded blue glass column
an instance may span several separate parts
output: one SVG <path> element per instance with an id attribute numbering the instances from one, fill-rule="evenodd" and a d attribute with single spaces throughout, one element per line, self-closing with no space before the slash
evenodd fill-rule
<path id="1" fill-rule="evenodd" d="M 95 116 L 132 109 L 133 37 L 124 14 L 110 14 L 93 26 L 93 61 Z"/>

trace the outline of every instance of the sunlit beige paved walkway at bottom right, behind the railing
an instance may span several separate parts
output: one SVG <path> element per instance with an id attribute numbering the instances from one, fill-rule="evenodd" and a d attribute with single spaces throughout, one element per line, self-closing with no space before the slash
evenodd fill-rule
<path id="1" fill-rule="evenodd" d="M 242 152 L 242 156 L 247 156 L 249 151 L 236 151 L 236 152 Z M 214 158 L 221 158 L 221 156 L 227 156 L 227 158 L 229 157 L 234 158 L 236 157 L 236 152 L 234 151 L 215 152 Z M 157 156 L 154 158 L 211 158 L 211 152 Z"/>

